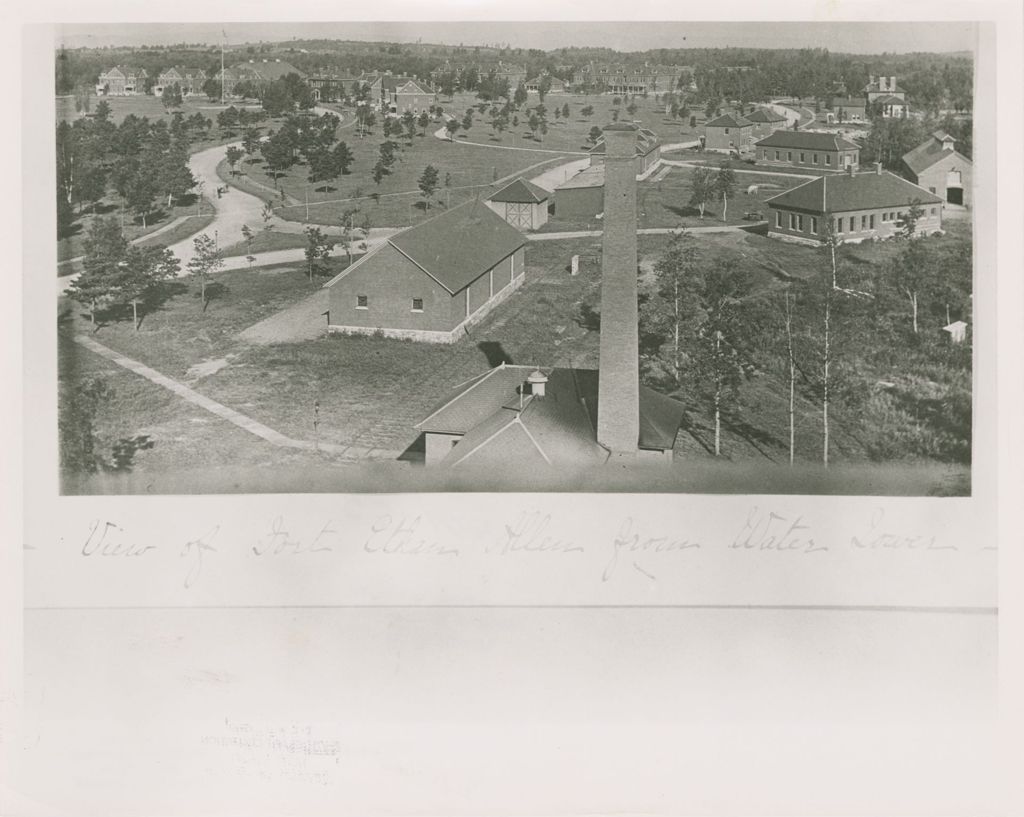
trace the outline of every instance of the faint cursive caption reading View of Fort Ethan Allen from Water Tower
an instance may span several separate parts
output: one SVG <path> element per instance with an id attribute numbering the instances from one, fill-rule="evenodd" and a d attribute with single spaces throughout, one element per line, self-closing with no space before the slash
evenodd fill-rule
<path id="1" fill-rule="evenodd" d="M 922 534 L 905 525 L 890 523 L 877 509 L 853 533 L 845 538 L 834 528 L 815 530 L 800 514 L 781 513 L 752 506 L 740 518 L 732 535 L 708 538 L 689 530 L 665 529 L 655 519 L 626 516 L 617 526 L 599 536 L 584 538 L 550 513 L 520 511 L 507 519 L 496 519 L 493 533 L 469 539 L 453 534 L 450 525 L 438 527 L 424 514 L 381 514 L 362 529 L 336 519 L 290 520 L 270 517 L 261 532 L 249 542 L 229 542 L 220 525 L 210 525 L 181 545 L 147 542 L 112 520 L 94 519 L 80 540 L 79 555 L 91 561 L 152 562 L 169 550 L 176 550 L 184 572 L 182 586 L 189 590 L 199 583 L 226 552 L 259 560 L 332 558 L 369 559 L 545 559 L 574 564 L 581 554 L 596 554 L 602 583 L 632 570 L 648 580 L 681 561 L 698 558 L 709 550 L 741 554 L 764 554 L 770 558 L 827 559 L 830 553 L 865 555 L 901 551 L 906 553 L 957 552 L 962 546 L 943 542 L 934 533 Z M 61 540 L 63 542 L 65 540 Z M 242 546 L 241 548 L 239 546 Z M 986 550 L 982 547 L 981 550 Z"/>

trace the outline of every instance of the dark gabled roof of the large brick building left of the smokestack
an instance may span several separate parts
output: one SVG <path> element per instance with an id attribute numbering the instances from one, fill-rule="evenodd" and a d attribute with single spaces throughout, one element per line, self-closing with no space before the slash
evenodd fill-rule
<path id="1" fill-rule="evenodd" d="M 384 247 L 393 247 L 455 295 L 524 244 L 522 233 L 473 200 L 396 232 L 324 286 L 333 287 Z"/>

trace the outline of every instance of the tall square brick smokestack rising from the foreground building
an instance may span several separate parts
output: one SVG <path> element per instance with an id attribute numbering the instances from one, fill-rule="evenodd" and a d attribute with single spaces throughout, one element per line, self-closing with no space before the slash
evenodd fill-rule
<path id="1" fill-rule="evenodd" d="M 637 126 L 604 129 L 604 238 L 601 245 L 601 359 L 597 441 L 612 456 L 640 442 L 637 332 Z"/>

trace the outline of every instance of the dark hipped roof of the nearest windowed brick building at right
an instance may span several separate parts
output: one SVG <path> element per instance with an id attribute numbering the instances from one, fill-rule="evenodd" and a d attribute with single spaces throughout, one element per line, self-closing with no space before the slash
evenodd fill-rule
<path id="1" fill-rule="evenodd" d="M 846 213 L 881 207 L 906 207 L 914 199 L 941 204 L 942 199 L 889 171 L 822 176 L 768 199 L 769 207 L 809 213 Z"/>

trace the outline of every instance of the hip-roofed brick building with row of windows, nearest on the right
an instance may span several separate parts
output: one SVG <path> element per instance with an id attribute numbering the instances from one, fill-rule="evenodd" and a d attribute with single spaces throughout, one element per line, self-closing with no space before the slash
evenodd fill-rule
<path id="1" fill-rule="evenodd" d="M 880 168 L 867 173 L 822 176 L 786 190 L 768 206 L 768 235 L 782 241 L 819 245 L 831 219 L 842 242 L 888 239 L 902 229 L 903 217 L 916 202 L 923 209 L 916 231 L 942 230 L 942 200 Z"/>

